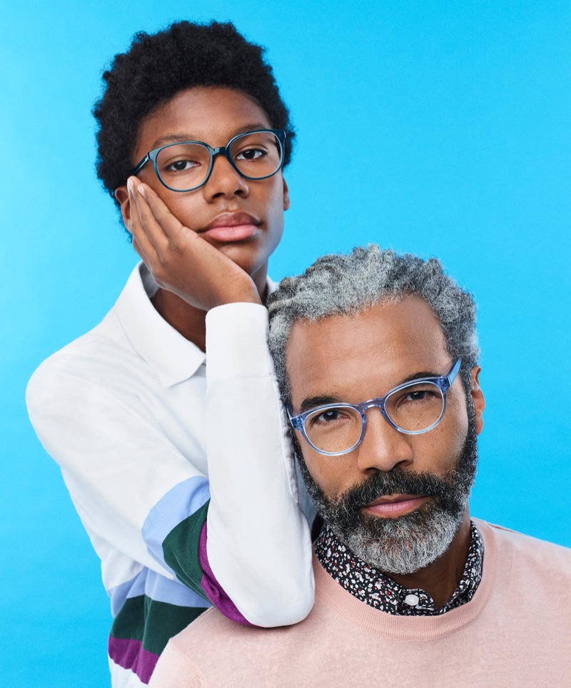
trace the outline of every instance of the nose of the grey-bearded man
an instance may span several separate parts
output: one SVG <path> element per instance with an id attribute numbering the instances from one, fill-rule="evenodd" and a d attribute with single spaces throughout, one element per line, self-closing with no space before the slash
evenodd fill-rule
<path id="1" fill-rule="evenodd" d="M 389 472 L 397 464 L 413 462 L 413 447 L 408 435 L 395 430 L 380 409 L 368 409 L 363 442 L 357 447 L 357 464 L 363 473 L 372 470 Z"/>

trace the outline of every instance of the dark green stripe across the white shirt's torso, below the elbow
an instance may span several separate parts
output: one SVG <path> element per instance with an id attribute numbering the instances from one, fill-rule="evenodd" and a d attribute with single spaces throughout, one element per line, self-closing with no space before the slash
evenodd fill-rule
<path id="1" fill-rule="evenodd" d="M 168 641 L 198 618 L 204 607 L 178 607 L 146 595 L 125 600 L 111 627 L 111 637 L 141 640 L 143 649 L 161 654 Z"/>

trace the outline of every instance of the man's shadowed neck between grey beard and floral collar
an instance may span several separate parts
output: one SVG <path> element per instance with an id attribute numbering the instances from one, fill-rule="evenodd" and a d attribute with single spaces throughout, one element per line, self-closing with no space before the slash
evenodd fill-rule
<path id="1" fill-rule="evenodd" d="M 433 598 L 436 608 L 440 609 L 453 594 L 462 578 L 469 547 L 470 513 L 466 507 L 460 528 L 450 543 L 450 547 L 441 557 L 412 574 L 385 573 L 385 576 L 405 588 L 424 590 Z"/>

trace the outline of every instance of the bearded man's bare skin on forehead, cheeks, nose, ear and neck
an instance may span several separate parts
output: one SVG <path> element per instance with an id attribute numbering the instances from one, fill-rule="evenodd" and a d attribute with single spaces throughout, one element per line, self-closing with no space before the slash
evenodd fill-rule
<path id="1" fill-rule="evenodd" d="M 324 347 L 323 342 L 328 345 Z M 296 322 L 288 339 L 286 363 L 293 412 L 297 414 L 305 410 L 312 397 L 321 397 L 321 403 L 330 399 L 358 404 L 380 397 L 413 375 L 445 374 L 453 361 L 433 310 L 420 297 L 405 296 L 398 303 L 377 304 L 358 315 Z M 475 367 L 470 389 L 478 434 L 485 407 L 479 373 L 480 368 Z M 402 434 L 385 422 L 378 409 L 367 413 L 363 442 L 340 457 L 315 452 L 296 433 L 311 477 L 329 499 L 363 483 L 373 472 L 388 472 L 399 466 L 405 471 L 441 477 L 455 466 L 468 430 L 460 377 L 448 391 L 444 418 L 425 434 Z M 424 501 L 413 508 L 420 508 Z M 390 517 L 381 516 L 374 507 L 365 509 L 378 518 Z M 470 515 L 466 507 L 460 528 L 442 557 L 413 574 L 390 577 L 405 587 L 424 589 L 437 607 L 442 607 L 460 581 L 469 544 Z"/>

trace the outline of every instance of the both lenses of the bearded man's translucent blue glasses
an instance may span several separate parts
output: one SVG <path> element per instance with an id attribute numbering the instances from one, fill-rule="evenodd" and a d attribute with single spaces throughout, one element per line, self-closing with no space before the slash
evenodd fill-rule
<path id="1" fill-rule="evenodd" d="M 401 430 L 418 432 L 440 419 L 444 397 L 438 385 L 419 382 L 399 389 L 385 400 L 385 412 Z M 363 421 L 360 413 L 348 407 L 330 407 L 305 419 L 305 434 L 323 452 L 345 452 L 359 441 Z"/>

